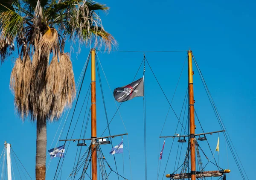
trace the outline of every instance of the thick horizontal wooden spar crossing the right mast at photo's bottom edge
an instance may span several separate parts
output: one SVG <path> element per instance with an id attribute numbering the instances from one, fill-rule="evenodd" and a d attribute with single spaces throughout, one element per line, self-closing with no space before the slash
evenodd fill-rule
<path id="1" fill-rule="evenodd" d="M 220 177 L 225 173 L 230 173 L 229 169 L 224 169 L 221 171 L 204 171 L 204 172 L 196 172 L 196 178 L 200 177 Z M 184 174 L 166 174 L 166 177 L 171 177 L 175 180 L 179 179 L 188 179 L 192 177 L 191 173 L 184 173 Z"/>

